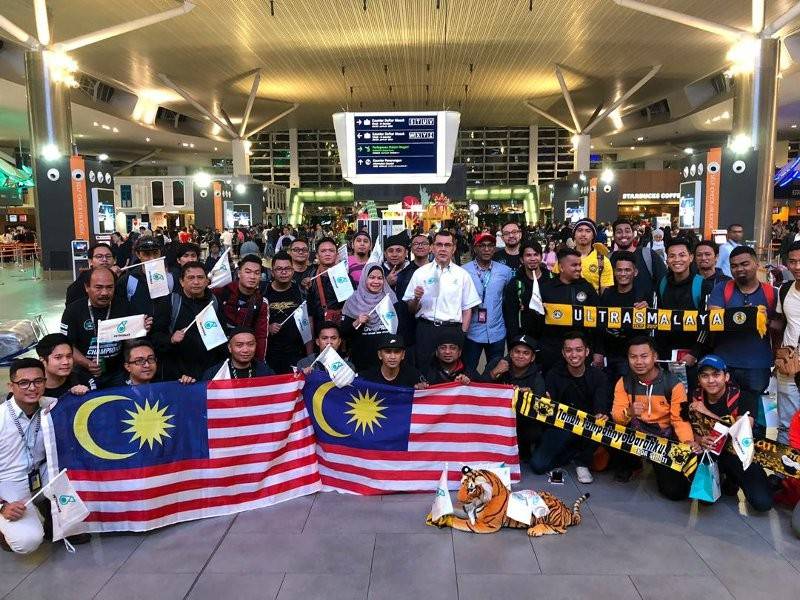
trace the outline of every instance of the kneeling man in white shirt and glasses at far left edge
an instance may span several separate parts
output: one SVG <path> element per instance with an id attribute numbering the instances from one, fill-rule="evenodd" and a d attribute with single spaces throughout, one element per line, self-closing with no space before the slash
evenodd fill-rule
<path id="1" fill-rule="evenodd" d="M 46 471 L 39 401 L 47 378 L 34 358 L 13 361 L 9 375 L 11 396 L 0 406 L 0 533 L 11 550 L 29 554 L 44 539 L 39 512 L 25 501 Z"/>

